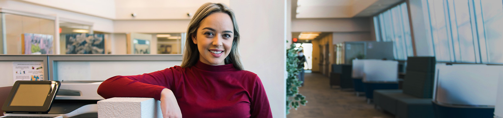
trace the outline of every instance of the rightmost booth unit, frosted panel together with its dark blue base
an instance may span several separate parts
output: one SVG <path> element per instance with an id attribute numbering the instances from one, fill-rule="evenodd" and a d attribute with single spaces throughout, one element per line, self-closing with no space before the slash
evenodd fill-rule
<path id="1" fill-rule="evenodd" d="M 503 66 L 437 66 L 435 117 L 493 117 L 499 73 Z"/>

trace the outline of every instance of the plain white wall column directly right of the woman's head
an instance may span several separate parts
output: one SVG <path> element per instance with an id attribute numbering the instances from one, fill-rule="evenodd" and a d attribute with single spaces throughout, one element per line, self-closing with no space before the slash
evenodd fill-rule
<path id="1" fill-rule="evenodd" d="M 286 117 L 286 14 L 290 14 L 286 4 L 287 0 L 230 1 L 241 35 L 244 69 L 261 78 L 273 117 Z"/>

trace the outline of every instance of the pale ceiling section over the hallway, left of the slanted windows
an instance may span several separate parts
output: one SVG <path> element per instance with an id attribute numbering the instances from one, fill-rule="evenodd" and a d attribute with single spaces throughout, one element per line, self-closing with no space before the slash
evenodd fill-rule
<path id="1" fill-rule="evenodd" d="M 292 0 L 293 19 L 371 17 L 404 0 Z"/>

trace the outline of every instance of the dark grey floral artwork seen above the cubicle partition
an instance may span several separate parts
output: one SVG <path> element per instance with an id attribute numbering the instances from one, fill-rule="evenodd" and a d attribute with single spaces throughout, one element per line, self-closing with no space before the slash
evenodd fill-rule
<path id="1" fill-rule="evenodd" d="M 105 54 L 105 35 L 67 34 L 66 54 Z"/>

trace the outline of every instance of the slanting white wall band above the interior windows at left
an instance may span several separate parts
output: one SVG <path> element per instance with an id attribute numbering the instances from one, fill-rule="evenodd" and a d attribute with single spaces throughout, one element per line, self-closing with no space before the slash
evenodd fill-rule
<path id="1" fill-rule="evenodd" d="M 57 15 L 61 18 L 74 19 L 79 21 L 86 21 L 94 23 L 93 30 L 100 32 L 112 33 L 114 32 L 113 21 L 101 17 L 85 15 L 66 10 L 61 10 L 52 7 L 41 6 L 33 3 L 15 0 L 0 0 L 0 8 L 17 10 L 29 13 L 43 14 L 43 15 Z"/>

